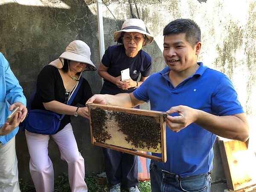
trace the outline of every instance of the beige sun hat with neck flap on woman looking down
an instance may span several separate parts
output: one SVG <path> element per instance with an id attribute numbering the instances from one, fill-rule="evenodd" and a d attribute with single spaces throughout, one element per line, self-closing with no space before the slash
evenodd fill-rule
<path id="1" fill-rule="evenodd" d="M 87 67 L 84 70 L 95 71 L 97 68 L 90 60 L 90 47 L 81 40 L 72 41 L 67 47 L 64 53 L 59 56 L 58 59 L 52 61 L 49 65 L 53 65 L 58 69 L 61 69 L 64 65 L 63 59 L 68 59 L 71 61 L 77 61 L 86 63 Z"/>

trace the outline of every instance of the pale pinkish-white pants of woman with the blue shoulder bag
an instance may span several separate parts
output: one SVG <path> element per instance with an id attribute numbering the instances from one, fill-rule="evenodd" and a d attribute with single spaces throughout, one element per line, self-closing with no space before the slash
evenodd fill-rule
<path id="1" fill-rule="evenodd" d="M 87 192 L 84 181 L 84 158 L 78 151 L 71 124 L 51 135 L 61 152 L 61 159 L 68 165 L 68 178 L 72 192 Z M 48 156 L 49 135 L 26 131 L 29 148 L 29 170 L 37 192 L 53 192 L 54 173 L 52 161 Z"/>

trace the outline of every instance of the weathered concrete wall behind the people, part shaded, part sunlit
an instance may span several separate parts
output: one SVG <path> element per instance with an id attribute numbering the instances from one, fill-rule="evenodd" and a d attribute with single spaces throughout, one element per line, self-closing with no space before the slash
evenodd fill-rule
<path id="1" fill-rule="evenodd" d="M 153 58 L 152 73 L 166 66 L 162 56 L 163 27 L 176 18 L 195 20 L 202 31 L 199 61 L 227 74 L 233 81 L 250 122 L 249 146 L 255 146 L 255 0 L 104 0 L 102 9 L 105 49 L 115 44 L 113 32 L 121 28 L 125 19 L 136 17 L 145 21 L 148 32 L 154 35 L 154 42 L 143 48 Z M 27 99 L 35 88 L 40 70 L 58 58 L 75 39 L 87 42 L 92 52 L 91 59 L 96 67 L 99 66 L 96 1 L 0 0 L 0 34 L 0 52 L 8 59 Z M 93 93 L 99 93 L 102 80 L 97 72 L 85 72 L 83 76 L 90 82 Z M 148 108 L 148 105 L 143 108 Z M 90 143 L 88 120 L 81 117 L 72 120 L 86 172 L 104 169 L 101 148 Z M 24 133 L 19 132 L 16 141 L 20 178 L 31 181 Z M 215 143 L 214 150 L 213 182 L 225 179 L 218 143 Z M 67 165 L 60 160 L 58 147 L 52 140 L 49 142 L 49 156 L 56 176 L 67 172 Z"/>

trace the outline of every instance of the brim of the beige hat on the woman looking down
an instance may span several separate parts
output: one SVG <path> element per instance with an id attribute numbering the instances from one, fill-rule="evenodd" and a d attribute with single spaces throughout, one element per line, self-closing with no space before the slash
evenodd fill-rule
<path id="1" fill-rule="evenodd" d="M 86 64 L 90 65 L 90 67 L 87 65 L 87 67 L 84 70 L 90 70 L 90 71 L 97 70 L 97 68 L 95 67 L 95 65 L 89 58 L 84 57 L 83 55 L 76 54 L 74 52 L 65 51 L 64 53 L 61 54 L 61 56 L 59 58 L 60 59 L 64 58 L 64 59 L 68 59 L 71 61 L 77 61 L 77 62 L 86 63 Z"/>

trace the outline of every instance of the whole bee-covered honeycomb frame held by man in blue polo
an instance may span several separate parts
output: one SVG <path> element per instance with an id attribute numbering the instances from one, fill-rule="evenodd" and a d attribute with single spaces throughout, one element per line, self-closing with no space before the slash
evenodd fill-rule
<path id="1" fill-rule="evenodd" d="M 87 105 L 93 145 L 166 162 L 167 113 L 109 105 Z M 140 153 L 147 151 L 161 157 Z"/>

